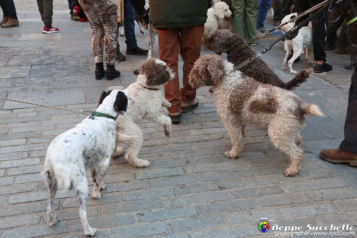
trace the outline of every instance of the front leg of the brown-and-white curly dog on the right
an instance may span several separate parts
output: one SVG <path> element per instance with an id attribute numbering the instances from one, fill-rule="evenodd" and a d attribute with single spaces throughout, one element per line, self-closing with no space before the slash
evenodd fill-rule
<path id="1" fill-rule="evenodd" d="M 245 125 L 238 125 L 232 122 L 224 122 L 231 137 L 232 149 L 225 153 L 227 158 L 235 159 L 241 155 L 243 149 L 242 139 L 245 134 Z"/>

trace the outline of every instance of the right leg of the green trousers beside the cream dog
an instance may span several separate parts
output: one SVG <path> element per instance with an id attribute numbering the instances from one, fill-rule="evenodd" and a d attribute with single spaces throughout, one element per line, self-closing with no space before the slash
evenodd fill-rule
<path id="1" fill-rule="evenodd" d="M 244 7 L 244 39 L 250 40 L 256 36 L 258 1 L 246 0 Z M 254 42 L 255 43 L 255 42 Z"/>

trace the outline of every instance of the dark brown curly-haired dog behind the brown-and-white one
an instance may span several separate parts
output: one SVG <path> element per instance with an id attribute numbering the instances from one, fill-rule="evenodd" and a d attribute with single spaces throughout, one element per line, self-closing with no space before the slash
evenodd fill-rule
<path id="1" fill-rule="evenodd" d="M 216 30 L 203 41 L 203 44 L 218 55 L 221 55 L 223 52 L 227 53 L 227 60 L 233 63 L 234 66 L 238 66 L 247 59 L 257 55 L 249 45 L 243 45 L 244 42 L 245 40 L 241 36 L 233 34 L 228 30 Z M 260 83 L 271 84 L 286 90 L 295 89 L 303 82 L 306 82 L 306 79 L 312 72 L 311 69 L 302 69 L 295 75 L 295 78 L 284 83 L 259 57 L 239 70 Z"/>

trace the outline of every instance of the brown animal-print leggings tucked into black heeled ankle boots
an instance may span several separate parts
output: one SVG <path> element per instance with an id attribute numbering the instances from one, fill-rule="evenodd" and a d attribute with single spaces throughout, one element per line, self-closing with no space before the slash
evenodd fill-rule
<path id="1" fill-rule="evenodd" d="M 79 0 L 79 4 L 92 28 L 92 48 L 95 63 L 103 62 L 104 45 L 105 62 L 108 65 L 114 65 L 117 44 L 118 7 L 109 0 Z"/>

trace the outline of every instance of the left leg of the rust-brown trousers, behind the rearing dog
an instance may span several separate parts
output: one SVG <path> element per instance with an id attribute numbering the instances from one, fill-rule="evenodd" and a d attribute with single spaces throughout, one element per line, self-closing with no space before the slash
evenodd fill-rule
<path id="1" fill-rule="evenodd" d="M 180 49 L 180 32 L 178 28 L 157 28 L 159 38 L 159 59 L 172 69 L 175 78 L 164 86 L 165 98 L 172 106 L 167 108 L 169 113 L 181 110 L 180 79 L 178 78 L 178 51 Z"/>

